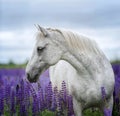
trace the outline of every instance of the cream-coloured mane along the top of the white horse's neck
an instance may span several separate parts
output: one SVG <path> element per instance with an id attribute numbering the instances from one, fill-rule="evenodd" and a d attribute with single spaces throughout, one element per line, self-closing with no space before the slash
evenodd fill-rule
<path id="1" fill-rule="evenodd" d="M 92 39 L 71 31 L 51 28 L 48 28 L 48 30 L 57 31 L 62 34 L 69 48 L 73 51 L 81 51 L 84 54 L 88 54 L 90 52 L 102 54 L 102 51 L 99 49 L 97 43 Z"/>

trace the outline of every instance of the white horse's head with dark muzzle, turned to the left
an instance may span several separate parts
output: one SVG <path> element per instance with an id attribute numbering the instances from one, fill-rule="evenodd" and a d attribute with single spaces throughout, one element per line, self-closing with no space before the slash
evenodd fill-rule
<path id="1" fill-rule="evenodd" d="M 37 41 L 26 67 L 27 79 L 30 82 L 36 82 L 42 72 L 61 59 L 63 50 L 57 41 L 60 37 L 62 36 L 59 32 L 55 33 L 38 25 Z"/>

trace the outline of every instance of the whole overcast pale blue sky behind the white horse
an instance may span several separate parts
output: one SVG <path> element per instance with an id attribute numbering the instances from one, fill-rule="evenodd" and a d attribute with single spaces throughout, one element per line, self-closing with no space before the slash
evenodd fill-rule
<path id="1" fill-rule="evenodd" d="M 120 58 L 120 0 L 0 0 L 0 62 L 30 58 L 34 24 L 77 31 Z"/>

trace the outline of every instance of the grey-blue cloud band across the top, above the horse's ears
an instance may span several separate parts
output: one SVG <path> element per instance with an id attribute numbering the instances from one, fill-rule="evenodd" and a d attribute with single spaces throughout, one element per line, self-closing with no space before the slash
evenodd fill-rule
<path id="1" fill-rule="evenodd" d="M 69 4 L 68 4 L 69 3 Z M 34 23 L 75 27 L 105 28 L 120 25 L 120 1 L 96 0 L 35 0 L 12 2 L 1 5 L 1 28 L 23 28 Z"/>

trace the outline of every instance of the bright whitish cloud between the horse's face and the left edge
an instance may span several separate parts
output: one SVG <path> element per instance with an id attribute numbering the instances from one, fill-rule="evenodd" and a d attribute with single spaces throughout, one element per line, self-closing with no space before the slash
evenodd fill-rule
<path id="1" fill-rule="evenodd" d="M 0 32 L 0 62 L 23 63 L 30 58 L 34 44 L 33 30 Z"/>

